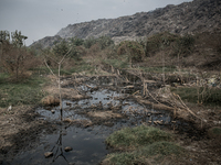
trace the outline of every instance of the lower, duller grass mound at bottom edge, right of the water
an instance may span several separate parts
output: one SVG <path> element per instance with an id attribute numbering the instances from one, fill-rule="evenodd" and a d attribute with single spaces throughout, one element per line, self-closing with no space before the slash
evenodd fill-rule
<path id="1" fill-rule="evenodd" d="M 155 142 L 140 150 L 125 153 L 113 153 L 106 157 L 109 165 L 135 165 L 160 163 L 166 156 L 178 157 L 185 154 L 185 150 L 172 142 Z M 148 161 L 147 161 L 148 158 Z"/>

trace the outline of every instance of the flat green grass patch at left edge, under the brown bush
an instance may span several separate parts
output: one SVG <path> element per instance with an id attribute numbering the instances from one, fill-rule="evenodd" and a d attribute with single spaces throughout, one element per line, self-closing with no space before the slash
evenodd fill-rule
<path id="1" fill-rule="evenodd" d="M 45 81 L 44 78 L 36 76 L 19 82 L 4 80 L 0 85 L 0 107 L 36 105 L 45 95 L 41 90 Z"/>

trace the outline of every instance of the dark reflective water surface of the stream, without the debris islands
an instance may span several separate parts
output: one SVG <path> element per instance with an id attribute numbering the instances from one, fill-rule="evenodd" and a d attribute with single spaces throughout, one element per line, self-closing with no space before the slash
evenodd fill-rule
<path id="1" fill-rule="evenodd" d="M 39 165 L 39 164 L 75 164 L 75 165 L 93 165 L 98 164 L 106 154 L 110 152 L 107 150 L 105 139 L 124 127 L 135 127 L 143 123 L 156 125 L 154 121 L 161 121 L 162 124 L 158 127 L 172 127 L 172 118 L 169 112 L 152 110 L 137 103 L 133 99 L 116 99 L 116 97 L 126 97 L 124 88 L 109 89 L 110 86 L 119 86 L 113 79 L 91 79 L 87 84 L 91 87 L 99 89 L 92 91 L 87 86 L 77 87 L 78 90 L 90 95 L 90 99 L 71 101 L 64 100 L 63 107 L 64 118 L 90 120 L 86 116 L 81 114 L 81 111 L 90 111 L 93 106 L 99 110 L 108 110 L 110 106 L 119 106 L 118 112 L 126 117 L 123 119 L 110 120 L 112 125 L 96 124 L 88 128 L 81 128 L 76 125 L 65 124 L 57 125 L 57 131 L 51 134 L 42 134 L 39 145 L 31 150 L 19 153 L 10 163 L 12 165 Z M 98 108 L 99 107 L 99 108 Z M 55 110 L 52 113 L 51 110 Z M 134 113 L 136 111 L 136 113 Z M 42 117 L 39 120 L 56 121 L 60 120 L 59 107 L 38 108 L 36 112 Z M 177 127 L 188 127 L 187 123 L 176 121 Z M 66 129 L 65 129 L 66 128 Z M 71 152 L 65 152 L 64 147 L 71 146 Z M 53 156 L 45 158 L 45 152 L 53 152 Z"/>

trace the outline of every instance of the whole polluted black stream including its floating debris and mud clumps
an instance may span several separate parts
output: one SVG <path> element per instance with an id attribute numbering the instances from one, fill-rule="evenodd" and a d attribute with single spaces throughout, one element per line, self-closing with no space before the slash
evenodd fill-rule
<path id="1" fill-rule="evenodd" d="M 56 131 L 42 133 L 35 148 L 19 153 L 10 164 L 99 164 L 112 152 L 105 139 L 114 131 L 140 124 L 181 129 L 190 127 L 172 119 L 168 111 L 154 110 L 129 97 L 129 94 L 141 88 L 140 84 L 136 86 L 135 82 L 133 90 L 125 86 L 116 77 L 88 78 L 75 87 L 88 98 L 63 100 L 63 119 L 66 122 L 59 122 L 60 107 L 39 107 L 36 112 L 41 117 L 38 120 L 56 123 Z M 45 158 L 46 152 L 53 155 Z"/>

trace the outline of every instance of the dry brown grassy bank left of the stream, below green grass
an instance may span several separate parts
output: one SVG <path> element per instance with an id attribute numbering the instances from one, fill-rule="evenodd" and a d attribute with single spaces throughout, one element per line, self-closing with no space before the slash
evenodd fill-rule
<path id="1" fill-rule="evenodd" d="M 35 147 L 42 130 L 45 132 L 56 130 L 53 123 L 36 120 L 38 117 L 33 107 L 0 109 L 0 164 L 10 162 L 21 151 Z"/>

